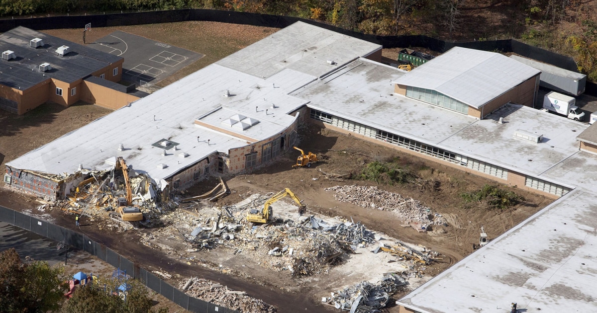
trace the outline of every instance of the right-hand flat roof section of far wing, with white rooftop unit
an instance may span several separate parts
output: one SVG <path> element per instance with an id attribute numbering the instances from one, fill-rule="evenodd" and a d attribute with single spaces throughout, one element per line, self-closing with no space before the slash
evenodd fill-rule
<path id="1" fill-rule="evenodd" d="M 500 117 L 505 123 L 498 123 Z M 556 114 L 509 104 L 446 138 L 441 145 L 516 172 L 540 176 L 578 152 L 576 136 L 588 126 Z M 534 143 L 514 138 L 516 131 L 543 135 L 543 140 Z"/>

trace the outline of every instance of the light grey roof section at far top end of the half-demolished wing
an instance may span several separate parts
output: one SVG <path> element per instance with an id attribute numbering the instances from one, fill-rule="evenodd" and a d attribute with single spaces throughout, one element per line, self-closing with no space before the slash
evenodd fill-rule
<path id="1" fill-rule="evenodd" d="M 321 76 L 380 49 L 380 45 L 298 21 L 216 63 L 260 78 L 282 69 Z"/>

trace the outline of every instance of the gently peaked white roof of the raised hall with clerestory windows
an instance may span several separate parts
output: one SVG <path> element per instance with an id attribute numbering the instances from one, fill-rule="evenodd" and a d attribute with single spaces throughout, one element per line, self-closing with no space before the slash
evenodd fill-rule
<path id="1" fill-rule="evenodd" d="M 411 70 L 396 83 L 432 89 L 479 108 L 539 73 L 495 52 L 454 47 Z"/>

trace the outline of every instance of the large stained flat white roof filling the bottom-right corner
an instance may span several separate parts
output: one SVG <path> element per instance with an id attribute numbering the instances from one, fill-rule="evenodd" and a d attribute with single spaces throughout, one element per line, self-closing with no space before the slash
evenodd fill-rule
<path id="1" fill-rule="evenodd" d="M 432 278 L 400 305 L 424 313 L 597 312 L 597 196 L 571 191 Z"/>

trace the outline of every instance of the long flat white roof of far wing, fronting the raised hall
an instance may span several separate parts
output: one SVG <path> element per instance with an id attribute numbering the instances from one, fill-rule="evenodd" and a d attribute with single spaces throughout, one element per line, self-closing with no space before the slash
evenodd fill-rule
<path id="1" fill-rule="evenodd" d="M 393 94 L 393 82 L 407 75 L 361 58 L 293 95 L 313 109 L 534 176 L 577 153 L 576 136 L 589 126 L 518 104 L 478 120 Z M 516 131 L 543 140 L 514 138 Z"/>

